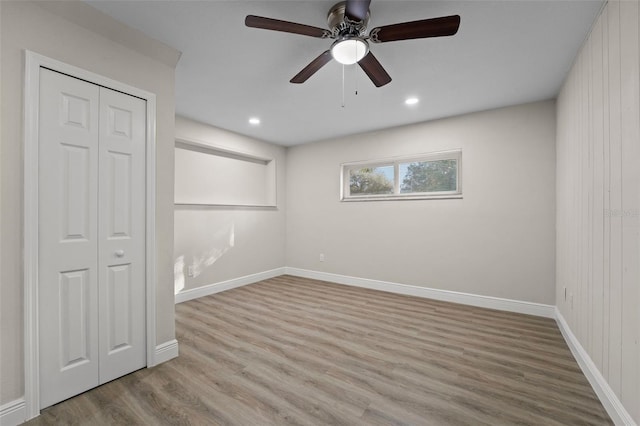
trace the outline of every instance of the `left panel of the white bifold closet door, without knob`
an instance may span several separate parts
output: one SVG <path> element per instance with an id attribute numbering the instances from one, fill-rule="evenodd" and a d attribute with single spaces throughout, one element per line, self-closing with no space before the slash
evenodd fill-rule
<path id="1" fill-rule="evenodd" d="M 97 385 L 99 87 L 40 72 L 40 404 Z"/>

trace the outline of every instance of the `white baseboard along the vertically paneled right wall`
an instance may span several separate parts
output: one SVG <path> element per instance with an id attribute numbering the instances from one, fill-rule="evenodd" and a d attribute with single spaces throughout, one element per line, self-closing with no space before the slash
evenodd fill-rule
<path id="1" fill-rule="evenodd" d="M 564 340 L 567 342 L 571 353 L 578 362 L 578 365 L 582 369 L 587 380 L 591 383 L 591 387 L 595 391 L 596 395 L 598 395 L 600 402 L 602 402 L 605 410 L 607 410 L 611 420 L 613 420 L 616 425 L 637 426 L 636 422 L 624 408 L 622 402 L 620 402 L 620 399 L 616 396 L 613 389 L 611 389 L 611 386 L 609 386 L 598 370 L 598 367 L 593 363 L 587 351 L 584 350 L 578 341 L 578 338 L 573 334 L 571 328 L 569 328 L 569 324 L 567 324 L 567 321 L 564 319 L 558 308 L 555 309 L 555 317 L 558 327 L 560 328 L 560 332 L 562 333 Z"/>

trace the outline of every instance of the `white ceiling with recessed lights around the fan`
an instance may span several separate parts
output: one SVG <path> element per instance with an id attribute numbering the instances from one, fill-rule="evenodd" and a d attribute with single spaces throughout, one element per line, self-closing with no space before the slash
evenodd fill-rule
<path id="1" fill-rule="evenodd" d="M 603 3 L 373 0 L 369 28 L 458 14 L 460 30 L 372 44 L 393 81 L 376 88 L 359 67 L 345 67 L 342 107 L 334 61 L 289 83 L 331 40 L 244 25 L 254 14 L 326 28 L 334 1 L 88 2 L 182 51 L 177 114 L 287 146 L 554 98 Z M 420 102 L 406 106 L 409 96 Z"/>

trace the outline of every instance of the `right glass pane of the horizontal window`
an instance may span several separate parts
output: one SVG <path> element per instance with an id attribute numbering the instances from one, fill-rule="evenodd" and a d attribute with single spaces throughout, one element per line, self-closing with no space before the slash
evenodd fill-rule
<path id="1" fill-rule="evenodd" d="M 400 193 L 455 191 L 457 168 L 456 160 L 401 163 Z"/>

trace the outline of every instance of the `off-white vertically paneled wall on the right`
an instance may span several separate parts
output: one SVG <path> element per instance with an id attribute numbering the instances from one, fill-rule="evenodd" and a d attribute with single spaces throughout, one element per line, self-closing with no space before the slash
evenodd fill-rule
<path id="1" fill-rule="evenodd" d="M 610 1 L 557 103 L 556 301 L 640 423 L 638 0 Z"/>

